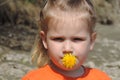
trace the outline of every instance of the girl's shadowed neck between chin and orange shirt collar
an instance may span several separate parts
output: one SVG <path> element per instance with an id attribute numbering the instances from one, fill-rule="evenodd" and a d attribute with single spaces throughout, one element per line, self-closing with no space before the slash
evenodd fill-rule
<path id="1" fill-rule="evenodd" d="M 52 69 L 59 72 L 60 74 L 67 76 L 67 77 L 72 77 L 72 78 L 81 77 L 85 73 L 83 66 L 80 66 L 80 68 L 75 69 L 75 70 L 70 70 L 70 71 L 62 70 L 59 67 L 55 66 L 54 64 L 51 67 Z"/>

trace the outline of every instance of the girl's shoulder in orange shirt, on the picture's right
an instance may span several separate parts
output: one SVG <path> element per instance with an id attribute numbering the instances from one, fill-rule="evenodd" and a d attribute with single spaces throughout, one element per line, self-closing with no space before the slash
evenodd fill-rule
<path id="1" fill-rule="evenodd" d="M 101 71 L 100 69 L 86 68 L 86 71 L 88 77 L 96 78 L 98 80 L 112 80 L 105 72 Z"/>

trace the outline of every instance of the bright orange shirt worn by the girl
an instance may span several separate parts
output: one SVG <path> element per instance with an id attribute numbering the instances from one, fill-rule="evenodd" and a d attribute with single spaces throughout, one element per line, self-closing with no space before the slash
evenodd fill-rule
<path id="1" fill-rule="evenodd" d="M 49 65 L 32 70 L 25 75 L 22 80 L 111 80 L 104 72 L 94 69 L 85 68 L 85 74 L 82 77 L 66 77 L 51 69 Z"/>

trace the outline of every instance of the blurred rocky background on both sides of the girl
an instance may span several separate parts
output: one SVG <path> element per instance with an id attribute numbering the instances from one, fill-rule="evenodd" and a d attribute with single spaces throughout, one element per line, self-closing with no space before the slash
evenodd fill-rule
<path id="1" fill-rule="evenodd" d="M 21 80 L 35 68 L 31 49 L 38 29 L 39 12 L 46 0 L 0 0 L 0 80 Z M 98 33 L 85 65 L 120 77 L 120 0 L 93 0 Z"/>

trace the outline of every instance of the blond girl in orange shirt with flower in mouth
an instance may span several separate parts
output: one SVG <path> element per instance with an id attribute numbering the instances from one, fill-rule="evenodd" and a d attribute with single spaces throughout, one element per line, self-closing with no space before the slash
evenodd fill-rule
<path id="1" fill-rule="evenodd" d="M 39 68 L 22 80 L 111 80 L 82 65 L 95 43 L 95 22 L 90 0 L 48 0 L 32 56 Z"/>

